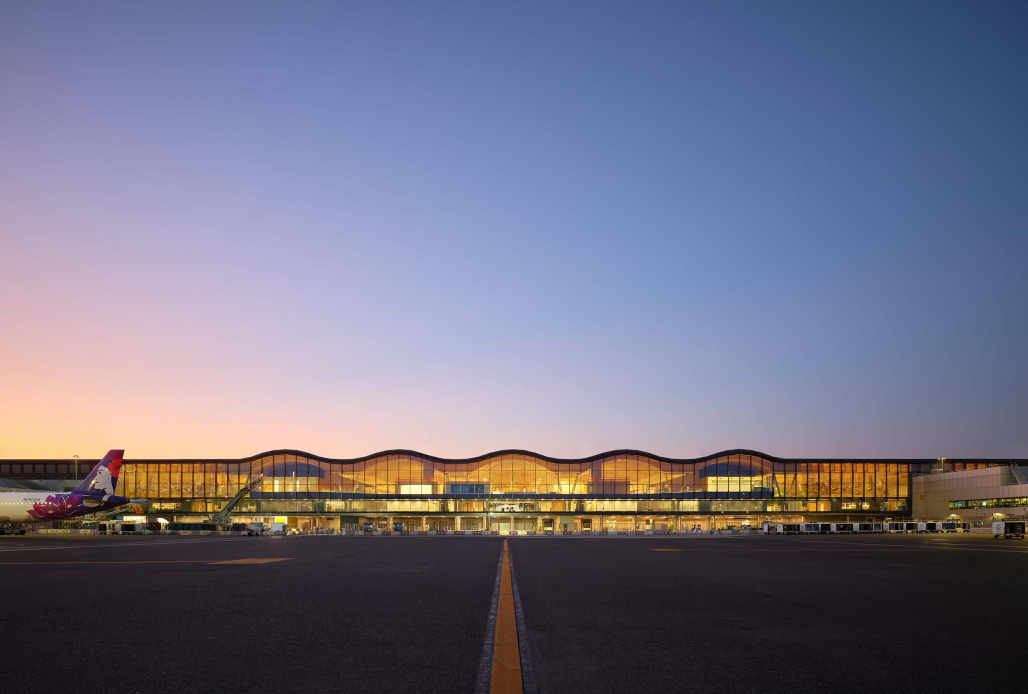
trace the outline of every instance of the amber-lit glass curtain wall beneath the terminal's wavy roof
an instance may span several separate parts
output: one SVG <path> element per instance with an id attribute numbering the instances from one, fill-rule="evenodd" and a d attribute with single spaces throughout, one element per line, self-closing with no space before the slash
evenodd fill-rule
<path id="1" fill-rule="evenodd" d="M 852 513 L 902 515 L 910 476 L 935 461 L 790 461 L 756 451 L 666 460 L 619 451 L 563 461 L 523 451 L 447 461 L 412 451 L 350 461 L 298 451 L 213 462 L 126 461 L 119 494 L 155 510 L 215 511 L 251 478 L 235 509 L 256 515 L 581 516 Z M 947 462 L 947 469 L 988 463 Z M 565 524 L 565 523 L 562 523 Z"/>

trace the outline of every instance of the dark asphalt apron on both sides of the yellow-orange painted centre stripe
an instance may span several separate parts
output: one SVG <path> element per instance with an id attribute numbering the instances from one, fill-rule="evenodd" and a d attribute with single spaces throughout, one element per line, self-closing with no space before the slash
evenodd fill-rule
<path id="1" fill-rule="evenodd" d="M 488 537 L 3 537 L 0 690 L 470 693 L 501 548 Z M 1024 691 L 1021 541 L 509 548 L 546 694 Z"/>

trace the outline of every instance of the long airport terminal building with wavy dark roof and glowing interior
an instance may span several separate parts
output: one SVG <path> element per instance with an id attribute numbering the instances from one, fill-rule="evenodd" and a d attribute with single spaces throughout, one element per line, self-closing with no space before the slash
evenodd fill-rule
<path id="1" fill-rule="evenodd" d="M 75 486 L 96 461 L 3 460 L 0 486 Z M 449 460 L 411 450 L 329 459 L 271 450 L 237 460 L 126 459 L 118 495 L 148 499 L 151 518 L 195 521 L 232 509 L 241 521 L 298 529 L 373 522 L 410 529 L 633 531 L 759 525 L 762 520 L 912 516 L 913 478 L 1016 465 L 997 459 L 780 459 L 727 450 L 668 459 L 615 450 L 556 459 L 501 450 Z"/>

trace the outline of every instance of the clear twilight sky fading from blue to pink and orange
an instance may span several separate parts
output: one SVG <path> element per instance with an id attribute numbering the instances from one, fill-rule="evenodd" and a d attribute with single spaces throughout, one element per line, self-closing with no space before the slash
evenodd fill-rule
<path id="1" fill-rule="evenodd" d="M 0 458 L 1028 455 L 1025 36 L 0 3 Z"/>

